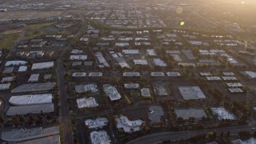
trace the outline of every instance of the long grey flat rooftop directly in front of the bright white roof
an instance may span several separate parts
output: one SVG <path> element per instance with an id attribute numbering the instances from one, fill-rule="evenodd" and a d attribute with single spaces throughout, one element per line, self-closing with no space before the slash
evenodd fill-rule
<path id="1" fill-rule="evenodd" d="M 28 106 L 10 106 L 7 110 L 6 115 L 25 115 L 25 114 L 40 114 L 40 113 L 52 113 L 54 112 L 54 104 L 46 103 L 40 105 L 28 105 Z"/>

